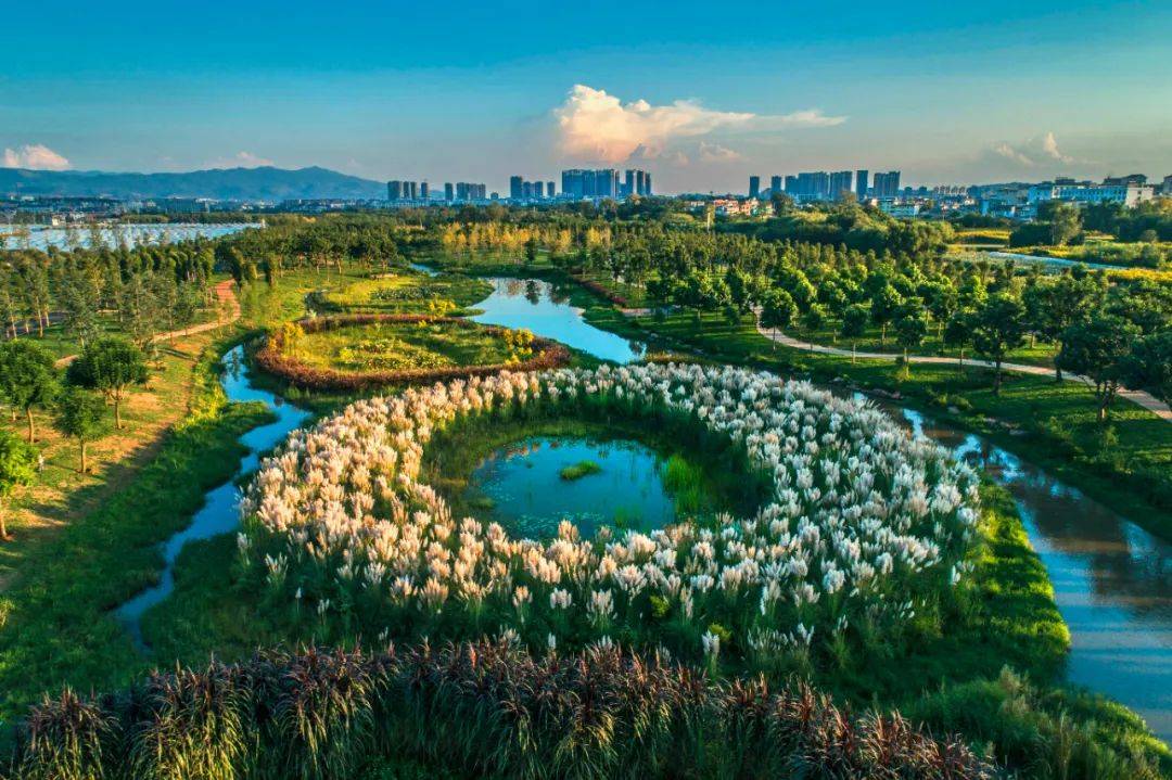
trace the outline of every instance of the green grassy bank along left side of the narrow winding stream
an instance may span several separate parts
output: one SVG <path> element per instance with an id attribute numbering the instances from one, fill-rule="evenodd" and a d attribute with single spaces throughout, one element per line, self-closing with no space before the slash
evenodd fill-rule
<path id="1" fill-rule="evenodd" d="M 237 437 L 267 413 L 225 403 L 217 356 L 205 355 L 191 413 L 136 479 L 30 550 L 21 577 L 0 595 L 0 719 L 62 684 L 110 687 L 144 670 L 109 610 L 157 580 L 157 545 L 231 477 L 244 452 Z"/>

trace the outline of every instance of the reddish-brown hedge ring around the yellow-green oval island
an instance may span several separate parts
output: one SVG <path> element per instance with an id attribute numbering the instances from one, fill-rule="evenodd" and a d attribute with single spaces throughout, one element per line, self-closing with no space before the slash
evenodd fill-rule
<path id="1" fill-rule="evenodd" d="M 455 328 L 476 328 L 491 335 L 504 335 L 507 328 L 484 326 L 461 317 L 429 316 L 425 314 L 350 314 L 315 317 L 298 322 L 305 333 L 320 333 L 347 326 L 374 323 L 417 322 L 449 324 Z M 261 369 L 302 390 L 368 390 L 396 384 L 432 383 L 462 379 L 471 376 L 488 376 L 509 369 L 511 371 L 540 371 L 558 368 L 570 362 L 570 350 L 547 338 L 533 340 L 533 357 L 512 365 L 451 365 L 443 368 L 400 369 L 394 371 L 339 371 L 316 368 L 285 354 L 280 333 L 271 335 L 255 351 L 254 360 Z"/>

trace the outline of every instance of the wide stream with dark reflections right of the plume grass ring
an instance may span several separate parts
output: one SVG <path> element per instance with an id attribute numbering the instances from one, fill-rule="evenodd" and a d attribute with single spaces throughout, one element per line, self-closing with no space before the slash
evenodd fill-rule
<path id="1" fill-rule="evenodd" d="M 888 409 L 1009 490 L 1070 628 L 1070 680 L 1172 740 L 1172 545 L 979 436 Z"/>

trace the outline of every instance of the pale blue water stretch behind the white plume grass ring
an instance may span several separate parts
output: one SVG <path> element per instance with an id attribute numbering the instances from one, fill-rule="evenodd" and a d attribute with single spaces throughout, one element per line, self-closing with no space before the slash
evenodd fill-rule
<path id="1" fill-rule="evenodd" d="M 492 294 L 475 305 L 483 314 L 476 322 L 505 328 L 529 328 L 538 336 L 560 341 L 599 360 L 629 363 L 639 360 L 643 344 L 595 328 L 582 319 L 582 309 L 571 306 L 570 293 L 538 279 L 489 279 Z"/>

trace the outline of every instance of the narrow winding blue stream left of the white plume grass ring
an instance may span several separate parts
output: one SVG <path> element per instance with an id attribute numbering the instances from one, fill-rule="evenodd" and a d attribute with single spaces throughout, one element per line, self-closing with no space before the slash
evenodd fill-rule
<path id="1" fill-rule="evenodd" d="M 135 643 L 139 646 L 142 646 L 142 630 L 138 621 L 143 613 L 166 598 L 175 589 L 175 560 L 179 556 L 183 546 L 189 541 L 210 539 L 234 531 L 240 525 L 240 515 L 237 511 L 240 502 L 240 490 L 236 486 L 237 478 L 254 471 L 260 464 L 261 452 L 272 450 L 284 442 L 289 431 L 299 427 L 309 418 L 309 412 L 304 409 L 294 406 L 275 394 L 253 386 L 244 367 L 244 347 L 234 347 L 229 350 L 222 362 L 224 374 L 220 384 L 224 386 L 227 399 L 240 403 L 259 401 L 275 415 L 277 419 L 254 427 L 240 437 L 240 443 L 248 447 L 248 453 L 240 458 L 240 465 L 232 474 L 232 479 L 207 491 L 204 495 L 204 506 L 191 519 L 191 525 L 163 545 L 165 567 L 158 584 L 143 590 L 115 610 L 115 616 L 127 627 Z"/>

